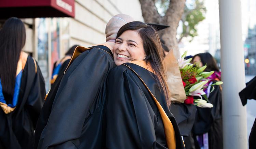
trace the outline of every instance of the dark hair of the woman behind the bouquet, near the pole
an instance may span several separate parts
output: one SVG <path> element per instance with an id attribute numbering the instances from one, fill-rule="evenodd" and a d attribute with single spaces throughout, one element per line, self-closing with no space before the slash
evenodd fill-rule
<path id="1" fill-rule="evenodd" d="M 208 52 L 199 53 L 193 57 L 192 61 L 194 60 L 194 58 L 196 56 L 200 57 L 203 65 L 205 65 L 205 64 L 207 65 L 207 68 L 205 69 L 205 71 L 219 71 L 216 61 L 210 53 L 208 53 Z"/>

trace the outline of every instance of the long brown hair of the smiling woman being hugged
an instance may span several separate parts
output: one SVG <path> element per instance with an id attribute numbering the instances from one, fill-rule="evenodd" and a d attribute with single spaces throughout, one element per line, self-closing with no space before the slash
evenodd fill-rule
<path id="1" fill-rule="evenodd" d="M 144 61 L 147 64 L 150 63 L 152 66 L 152 69 L 157 76 L 156 80 L 159 83 L 160 89 L 163 90 L 167 105 L 169 106 L 170 100 L 168 85 L 166 81 L 166 70 L 162 62 L 164 58 L 163 49 L 156 30 L 152 26 L 149 26 L 140 21 L 133 21 L 121 27 L 117 32 L 116 38 L 118 38 L 123 32 L 127 30 L 135 30 L 140 35 L 146 54 Z"/>

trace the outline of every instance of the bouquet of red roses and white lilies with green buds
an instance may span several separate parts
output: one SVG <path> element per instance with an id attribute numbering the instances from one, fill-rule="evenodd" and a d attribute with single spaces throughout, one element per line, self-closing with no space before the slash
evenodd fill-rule
<path id="1" fill-rule="evenodd" d="M 205 95 L 205 92 L 203 91 L 204 88 L 207 88 L 208 85 L 208 77 L 211 76 L 214 71 L 211 72 L 204 72 L 205 68 L 207 67 L 202 66 L 201 68 L 197 65 L 193 65 L 189 63 L 192 58 L 185 60 L 187 51 L 181 56 L 181 58 L 178 61 L 181 77 L 183 81 L 183 86 L 185 89 L 186 97 L 187 99 L 184 101 L 185 104 L 194 104 L 198 107 L 207 107 L 211 108 L 213 105 L 211 103 L 207 103 L 207 96 Z M 213 84 L 211 92 L 214 90 L 214 85 L 221 85 L 223 84 L 222 81 L 217 81 Z M 198 97 L 195 99 L 195 97 Z M 203 98 L 202 98 L 203 96 Z"/>

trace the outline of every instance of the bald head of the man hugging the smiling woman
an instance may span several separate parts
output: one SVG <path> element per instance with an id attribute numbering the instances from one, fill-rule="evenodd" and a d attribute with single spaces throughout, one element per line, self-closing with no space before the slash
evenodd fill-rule
<path id="1" fill-rule="evenodd" d="M 113 16 L 106 25 L 106 41 L 115 40 L 118 30 L 126 23 L 132 21 L 134 21 L 134 19 L 126 14 L 118 14 Z"/>

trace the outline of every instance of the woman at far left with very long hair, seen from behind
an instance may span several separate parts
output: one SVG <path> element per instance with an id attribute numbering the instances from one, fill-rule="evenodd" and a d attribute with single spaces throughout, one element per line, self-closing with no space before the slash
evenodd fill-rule
<path id="1" fill-rule="evenodd" d="M 15 17 L 0 30 L 0 148 L 32 149 L 34 129 L 45 96 L 37 62 L 22 51 L 23 22 Z"/>

